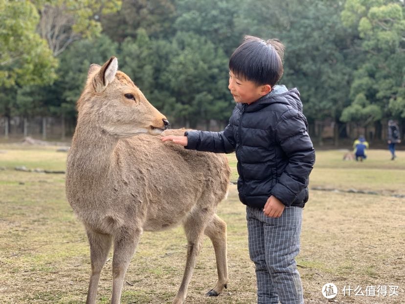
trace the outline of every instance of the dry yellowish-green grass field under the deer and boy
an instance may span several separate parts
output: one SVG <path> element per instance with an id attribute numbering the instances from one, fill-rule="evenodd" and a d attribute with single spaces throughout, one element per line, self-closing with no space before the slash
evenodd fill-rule
<path id="1" fill-rule="evenodd" d="M 56 147 L 0 144 L 0 303 L 84 303 L 90 276 L 89 246 L 84 229 L 65 197 L 65 176 L 15 171 L 62 170 L 66 153 Z M 320 151 L 304 210 L 301 253 L 297 257 L 306 303 L 321 304 L 321 288 L 334 283 L 334 303 L 405 303 L 405 152 L 389 160 L 387 150 L 370 150 L 363 163 L 343 162 L 343 152 Z M 236 160 L 229 155 L 232 180 Z M 356 188 L 379 195 L 347 193 Z M 186 303 L 255 303 L 255 274 L 248 257 L 245 208 L 236 186 L 218 214 L 228 225 L 228 289 L 217 298 L 204 296 L 217 280 L 209 240 L 198 259 Z M 124 284 L 123 304 L 171 303 L 180 285 L 186 254 L 182 229 L 144 233 Z M 342 289 L 362 288 L 364 296 L 343 296 Z M 109 303 L 111 259 L 98 289 L 98 302 Z M 374 286 L 376 296 L 372 296 Z M 385 286 L 387 295 L 377 294 Z M 398 295 L 390 295 L 390 289 Z M 366 295 L 366 288 L 370 294 Z M 394 290 L 395 291 L 395 290 Z"/>

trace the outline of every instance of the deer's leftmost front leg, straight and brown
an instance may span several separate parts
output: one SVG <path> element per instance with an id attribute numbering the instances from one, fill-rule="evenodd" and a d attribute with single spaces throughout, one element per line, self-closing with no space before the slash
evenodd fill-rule
<path id="1" fill-rule="evenodd" d="M 86 304 L 95 304 L 100 272 L 110 252 L 112 236 L 108 234 L 97 234 L 88 230 L 87 237 L 90 243 L 91 276 Z"/>

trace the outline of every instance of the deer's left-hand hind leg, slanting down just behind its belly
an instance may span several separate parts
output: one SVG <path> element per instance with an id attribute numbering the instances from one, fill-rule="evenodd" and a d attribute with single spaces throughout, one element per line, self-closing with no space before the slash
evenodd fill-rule
<path id="1" fill-rule="evenodd" d="M 172 304 L 182 304 L 185 301 L 188 284 L 193 275 L 198 253 L 202 247 L 205 223 L 209 220 L 209 216 L 206 213 L 207 210 L 201 210 L 200 212 L 195 210 L 183 223 L 184 231 L 187 236 L 187 258 L 183 279 Z"/>

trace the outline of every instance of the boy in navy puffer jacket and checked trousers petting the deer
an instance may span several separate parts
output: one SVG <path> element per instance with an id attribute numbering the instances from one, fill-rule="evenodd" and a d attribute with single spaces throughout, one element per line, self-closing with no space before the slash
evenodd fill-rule
<path id="1" fill-rule="evenodd" d="M 225 130 L 162 137 L 186 149 L 236 150 L 258 304 L 304 302 L 295 257 L 315 150 L 298 91 L 275 85 L 283 74 L 283 52 L 276 40 L 246 36 L 229 60 L 228 88 L 236 107 Z"/>

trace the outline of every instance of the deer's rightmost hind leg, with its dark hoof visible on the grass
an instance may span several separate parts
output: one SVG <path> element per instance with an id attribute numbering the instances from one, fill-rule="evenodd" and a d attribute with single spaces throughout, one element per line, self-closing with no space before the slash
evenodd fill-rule
<path id="1" fill-rule="evenodd" d="M 228 265 L 226 259 L 226 223 L 214 214 L 204 233 L 211 239 L 217 260 L 218 281 L 207 296 L 218 296 L 228 282 Z"/>

